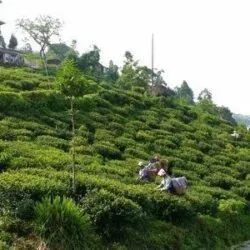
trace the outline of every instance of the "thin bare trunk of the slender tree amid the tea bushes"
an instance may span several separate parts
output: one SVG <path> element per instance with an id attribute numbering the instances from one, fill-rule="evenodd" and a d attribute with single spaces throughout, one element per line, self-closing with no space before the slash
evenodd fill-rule
<path id="1" fill-rule="evenodd" d="M 76 192 L 76 186 L 75 186 L 75 159 L 76 159 L 76 154 L 75 154 L 75 117 L 74 117 L 74 96 L 71 96 L 70 98 L 70 115 L 71 115 L 71 125 L 72 125 L 72 190 L 73 194 Z"/>

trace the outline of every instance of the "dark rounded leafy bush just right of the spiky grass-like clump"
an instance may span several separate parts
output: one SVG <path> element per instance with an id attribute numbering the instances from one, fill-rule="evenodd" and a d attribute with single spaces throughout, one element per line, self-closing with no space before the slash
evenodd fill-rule
<path id="1" fill-rule="evenodd" d="M 126 239 L 126 230 L 138 227 L 144 218 L 139 205 L 104 189 L 90 192 L 82 200 L 82 206 L 98 232 L 112 242 Z"/>

